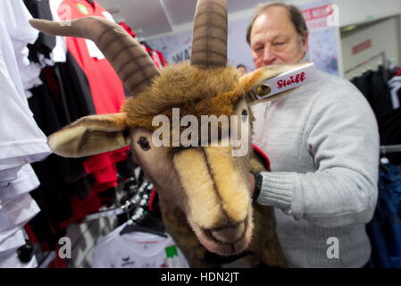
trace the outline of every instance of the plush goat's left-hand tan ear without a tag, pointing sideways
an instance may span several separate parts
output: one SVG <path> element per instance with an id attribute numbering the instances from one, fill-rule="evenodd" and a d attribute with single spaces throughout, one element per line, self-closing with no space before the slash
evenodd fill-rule
<path id="1" fill-rule="evenodd" d="M 47 138 L 53 152 L 64 157 L 92 156 L 129 145 L 126 114 L 89 115 Z"/>

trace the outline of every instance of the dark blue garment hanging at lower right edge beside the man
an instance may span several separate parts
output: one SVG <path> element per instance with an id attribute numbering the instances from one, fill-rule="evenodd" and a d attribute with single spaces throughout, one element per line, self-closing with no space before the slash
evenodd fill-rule
<path id="1" fill-rule="evenodd" d="M 401 268 L 401 168 L 380 167 L 379 198 L 366 231 L 372 242 L 372 268 Z"/>

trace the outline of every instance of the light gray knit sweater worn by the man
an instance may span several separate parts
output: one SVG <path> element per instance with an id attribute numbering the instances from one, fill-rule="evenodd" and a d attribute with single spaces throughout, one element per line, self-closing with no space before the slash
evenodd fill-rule
<path id="1" fill-rule="evenodd" d="M 347 80 L 321 71 L 318 78 L 253 107 L 253 140 L 272 164 L 257 202 L 276 206 L 289 266 L 361 267 L 371 255 L 365 223 L 378 197 L 377 122 Z M 327 255 L 333 237 L 338 258 Z"/>

